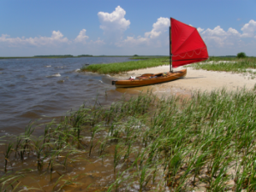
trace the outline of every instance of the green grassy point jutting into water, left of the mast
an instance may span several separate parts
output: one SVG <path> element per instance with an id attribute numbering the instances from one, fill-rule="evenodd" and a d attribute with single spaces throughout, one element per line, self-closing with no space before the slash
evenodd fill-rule
<path id="1" fill-rule="evenodd" d="M 147 68 L 158 67 L 169 64 L 169 57 L 152 58 L 140 61 L 128 61 L 110 64 L 97 64 L 84 66 L 80 70 L 86 72 L 100 73 L 100 74 L 116 74 L 125 73 L 128 71 Z"/>

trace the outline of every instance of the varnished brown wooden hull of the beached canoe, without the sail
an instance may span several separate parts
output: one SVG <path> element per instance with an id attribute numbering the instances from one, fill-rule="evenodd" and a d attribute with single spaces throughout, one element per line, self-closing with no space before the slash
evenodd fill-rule
<path id="1" fill-rule="evenodd" d="M 138 87 L 138 86 L 145 86 L 150 84 L 160 84 L 160 83 L 176 80 L 186 76 L 186 74 L 187 74 L 187 69 L 182 69 L 181 71 L 177 71 L 174 73 L 157 73 L 157 74 L 146 73 L 141 75 L 140 77 L 136 77 L 136 79 L 114 80 L 112 81 L 112 84 L 115 84 L 117 88 Z"/>

